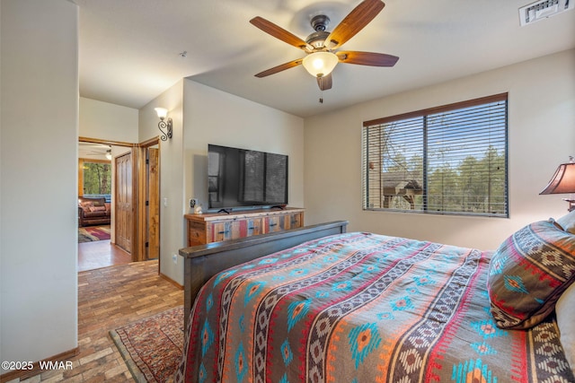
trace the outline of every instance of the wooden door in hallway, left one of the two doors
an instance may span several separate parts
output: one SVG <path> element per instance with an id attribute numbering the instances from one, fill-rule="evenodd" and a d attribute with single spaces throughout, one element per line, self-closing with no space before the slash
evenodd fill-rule
<path id="1" fill-rule="evenodd" d="M 134 236 L 134 201 L 132 152 L 116 157 L 115 234 L 116 245 L 132 253 Z"/>

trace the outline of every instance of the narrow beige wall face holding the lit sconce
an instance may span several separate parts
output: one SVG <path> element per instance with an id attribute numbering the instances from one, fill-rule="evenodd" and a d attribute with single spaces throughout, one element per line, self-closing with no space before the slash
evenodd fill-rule
<path id="1" fill-rule="evenodd" d="M 173 263 L 173 254 L 184 247 L 182 230 L 183 176 L 182 151 L 184 142 L 182 121 L 183 81 L 174 84 L 139 111 L 140 141 L 161 135 L 155 108 L 168 109 L 172 118 L 173 137 L 160 141 L 160 273 L 183 285 L 181 257 Z"/>

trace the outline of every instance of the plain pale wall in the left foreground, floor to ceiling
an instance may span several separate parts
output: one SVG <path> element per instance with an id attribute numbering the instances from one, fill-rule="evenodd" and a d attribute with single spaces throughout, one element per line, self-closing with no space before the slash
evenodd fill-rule
<path id="1" fill-rule="evenodd" d="M 78 9 L 0 6 L 0 354 L 40 361 L 77 346 Z"/>

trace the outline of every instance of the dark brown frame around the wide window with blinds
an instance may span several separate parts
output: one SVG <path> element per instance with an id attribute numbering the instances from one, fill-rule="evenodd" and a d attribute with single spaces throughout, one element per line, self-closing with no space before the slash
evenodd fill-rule
<path id="1" fill-rule="evenodd" d="M 423 165 L 422 165 L 422 169 L 421 169 L 421 176 L 422 176 L 422 182 L 423 185 L 422 187 L 422 198 L 424 200 L 424 203 L 422 204 L 422 207 L 420 209 L 416 209 L 416 210 L 411 210 L 413 209 L 413 207 L 411 206 L 411 209 L 404 209 L 404 208 L 394 208 L 394 207 L 390 207 L 387 206 L 385 207 L 384 204 L 381 204 L 380 207 L 369 207 L 369 203 L 370 203 L 370 198 L 369 198 L 369 191 L 368 187 L 370 185 L 368 185 L 369 182 L 369 168 L 370 168 L 370 158 L 369 158 L 369 152 L 368 152 L 368 148 L 367 148 L 367 130 L 371 127 L 373 128 L 374 126 L 381 126 L 384 124 L 390 124 L 390 123 L 394 123 L 394 122 L 401 122 L 401 121 L 406 121 L 412 118 L 427 118 L 430 115 L 437 115 L 440 113 L 446 113 L 446 112 L 454 112 L 458 109 L 468 109 L 468 108 L 473 108 L 473 107 L 479 107 L 482 105 L 486 105 L 486 104 L 490 104 L 493 102 L 504 102 L 504 127 L 503 127 L 503 146 L 504 146 L 504 153 L 502 154 L 504 156 L 504 180 L 503 180 L 503 212 L 501 213 L 486 213 L 486 212 L 481 212 L 481 213 L 476 213 L 476 212 L 464 212 L 464 211 L 460 211 L 460 212 L 456 212 L 456 211 L 443 211 L 443 210 L 431 210 L 429 209 L 429 205 L 428 205 L 428 197 L 429 195 L 429 169 L 428 169 L 428 163 L 430 161 L 430 154 L 428 153 L 428 135 L 429 132 L 427 132 L 425 129 L 422 129 L 421 132 L 421 139 L 422 139 L 422 145 L 421 145 L 421 151 L 420 151 L 420 155 L 422 157 L 422 161 L 423 161 Z M 363 127 L 362 127 L 362 149 L 361 149 L 361 155 L 362 155 L 362 178 L 361 178 L 361 187 L 362 187 L 362 209 L 364 211 L 385 211 L 385 212 L 389 212 L 389 211 L 394 211 L 394 212 L 404 212 L 404 213 L 431 213 L 431 214 L 440 214 L 440 215 L 465 215 L 465 216 L 483 216 L 483 217 L 498 217 L 498 218 L 509 218 L 509 93 L 508 92 L 504 92 L 504 93 L 499 93 L 499 94 L 494 94 L 491 96 L 486 96 L 486 97 L 481 97 L 481 98 L 477 98 L 477 99 L 473 99 L 473 100 L 464 100 L 464 101 L 460 101 L 460 102 L 455 102 L 455 103 L 451 103 L 451 104 L 447 104 L 447 105 L 442 105 L 442 106 L 438 106 L 438 107 L 433 107 L 433 108 L 429 108 L 429 109 L 420 109 L 420 110 L 416 110 L 416 111 L 411 111 L 411 112 L 407 112 L 407 113 L 402 113 L 402 114 L 398 114 L 398 115 L 394 115 L 394 116 L 389 116 L 389 117 L 385 117 L 385 118 L 376 118 L 376 119 L 372 119 L 372 120 L 368 120 L 368 121 L 364 121 L 363 122 Z M 382 149 L 382 145 L 376 145 L 376 147 L 378 147 L 380 150 Z M 384 159 L 382 158 L 382 163 L 383 163 Z M 491 174 L 491 172 L 490 172 Z M 376 186 L 374 187 L 376 190 L 378 190 L 378 196 L 380 201 L 382 200 L 382 197 L 385 198 L 385 192 L 384 192 L 384 187 L 382 185 Z M 463 209 L 462 209 L 463 210 Z"/>

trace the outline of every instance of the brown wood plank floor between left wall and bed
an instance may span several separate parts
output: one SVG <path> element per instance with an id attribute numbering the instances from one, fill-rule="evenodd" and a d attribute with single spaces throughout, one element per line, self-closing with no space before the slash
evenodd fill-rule
<path id="1" fill-rule="evenodd" d="M 157 260 L 80 272 L 80 353 L 72 359 L 73 368 L 44 371 L 22 382 L 131 382 L 109 331 L 182 304 L 183 291 L 158 274 Z"/>

